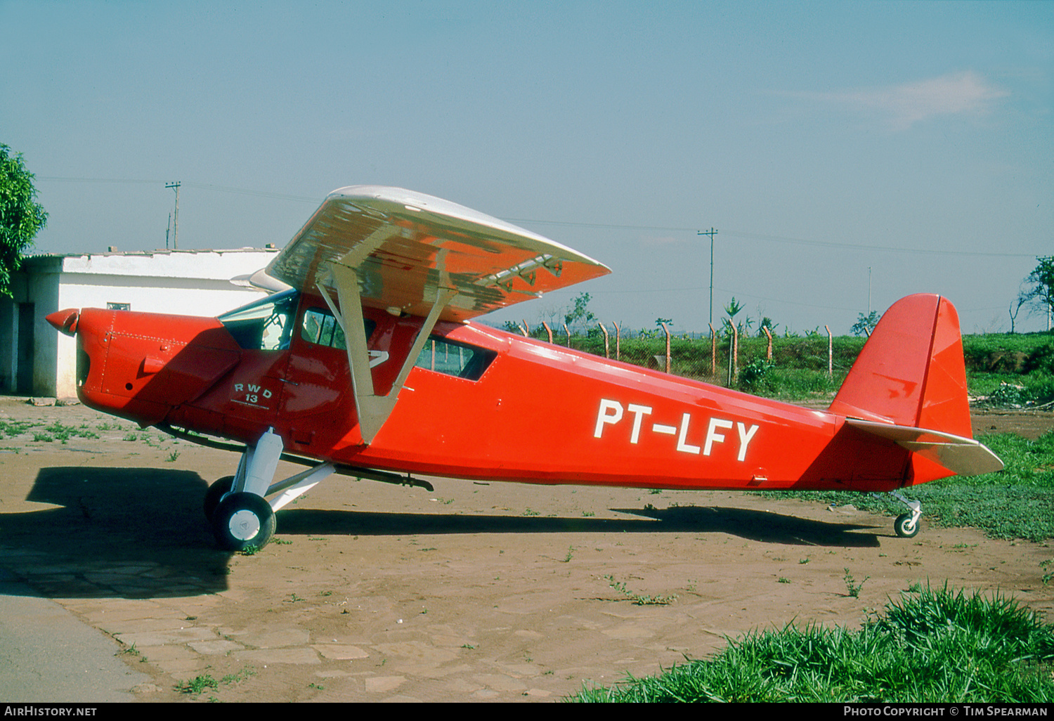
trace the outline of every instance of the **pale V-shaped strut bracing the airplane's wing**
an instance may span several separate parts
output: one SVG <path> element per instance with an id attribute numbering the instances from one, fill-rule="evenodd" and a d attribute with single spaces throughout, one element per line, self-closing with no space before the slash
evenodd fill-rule
<path id="1" fill-rule="evenodd" d="M 352 394 L 355 397 L 355 410 L 358 412 L 359 433 L 363 436 L 363 443 L 368 446 L 373 443 L 377 431 L 391 415 L 399 391 L 403 390 L 406 378 L 410 375 L 410 369 L 413 368 L 417 356 L 421 355 L 421 350 L 428 342 L 428 336 L 431 334 L 432 328 L 435 327 L 440 313 L 457 294 L 457 291 L 449 287 L 435 289 L 435 301 L 432 304 L 432 309 L 429 311 L 428 317 L 425 318 L 410 352 L 403 359 L 403 368 L 399 370 L 398 376 L 387 395 L 377 395 L 373 388 L 370 354 L 366 347 L 366 325 L 363 320 L 363 299 L 358 292 L 358 274 L 351 268 L 339 264 L 331 266 L 331 274 L 332 285 L 336 287 L 340 308 L 336 308 L 324 284 L 318 284 L 318 290 L 344 331 L 348 367 L 351 369 Z M 441 285 L 446 279 L 445 276 L 446 273 L 441 270 Z"/>

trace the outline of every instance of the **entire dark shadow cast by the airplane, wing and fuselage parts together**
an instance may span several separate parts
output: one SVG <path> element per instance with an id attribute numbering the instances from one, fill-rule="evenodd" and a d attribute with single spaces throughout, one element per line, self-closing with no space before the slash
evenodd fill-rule
<path id="1" fill-rule="evenodd" d="M 227 589 L 231 553 L 201 511 L 207 483 L 158 468 L 43 468 L 27 501 L 0 513 L 0 565 L 45 598 L 169 598 Z M 871 526 L 720 506 L 612 509 L 636 518 L 542 518 L 291 508 L 279 535 L 724 532 L 762 543 L 874 547 Z"/>

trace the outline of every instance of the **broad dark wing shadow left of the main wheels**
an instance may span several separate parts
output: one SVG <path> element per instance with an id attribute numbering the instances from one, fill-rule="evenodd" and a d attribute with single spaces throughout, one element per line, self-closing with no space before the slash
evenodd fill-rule
<path id="1" fill-rule="evenodd" d="M 0 565 L 47 598 L 164 598 L 227 588 L 197 473 L 158 468 L 42 468 L 26 501 L 0 513 Z"/>

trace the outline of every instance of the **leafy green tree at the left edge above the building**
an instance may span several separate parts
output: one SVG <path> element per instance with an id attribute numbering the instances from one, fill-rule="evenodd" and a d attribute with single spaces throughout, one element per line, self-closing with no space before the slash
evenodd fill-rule
<path id="1" fill-rule="evenodd" d="M 12 155 L 11 148 L 0 143 L 0 295 L 7 297 L 12 296 L 12 273 L 47 222 L 47 213 L 37 202 L 33 177 L 22 154 Z"/>

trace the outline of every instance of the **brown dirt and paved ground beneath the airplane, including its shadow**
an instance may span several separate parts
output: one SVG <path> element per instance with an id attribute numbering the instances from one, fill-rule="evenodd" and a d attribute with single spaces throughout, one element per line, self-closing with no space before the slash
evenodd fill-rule
<path id="1" fill-rule="evenodd" d="M 201 500 L 235 454 L 83 406 L 0 398 L 8 420 L 99 435 L 0 439 L 0 567 L 119 641 L 153 679 L 145 702 L 557 701 L 754 628 L 857 627 L 928 580 L 1054 618 L 1049 544 L 925 517 L 903 540 L 892 518 L 745 493 L 331 476 L 278 513 L 271 545 L 231 556 Z M 975 414 L 975 433 L 1052 427 Z"/>

